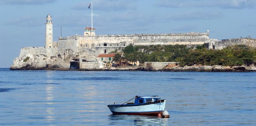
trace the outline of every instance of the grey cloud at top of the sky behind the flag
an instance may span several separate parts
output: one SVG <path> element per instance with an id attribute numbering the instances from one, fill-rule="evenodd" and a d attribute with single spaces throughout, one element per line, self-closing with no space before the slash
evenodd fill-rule
<path id="1" fill-rule="evenodd" d="M 134 10 L 136 5 L 127 4 L 132 3 L 133 0 L 95 0 L 93 4 L 97 4 L 97 10 L 102 11 L 117 11 L 117 10 Z M 73 10 L 89 9 L 88 6 L 91 2 L 80 2 L 70 8 Z"/>

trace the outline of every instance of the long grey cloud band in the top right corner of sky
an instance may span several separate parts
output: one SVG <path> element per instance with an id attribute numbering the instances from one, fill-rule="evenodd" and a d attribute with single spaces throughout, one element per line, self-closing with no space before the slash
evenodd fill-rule
<path id="1" fill-rule="evenodd" d="M 161 0 L 158 6 L 182 8 L 182 7 L 218 7 L 222 9 L 255 8 L 256 0 Z"/>

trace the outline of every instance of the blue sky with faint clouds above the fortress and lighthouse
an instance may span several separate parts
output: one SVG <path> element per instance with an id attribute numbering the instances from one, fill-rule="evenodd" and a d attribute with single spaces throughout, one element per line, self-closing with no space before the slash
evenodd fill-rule
<path id="1" fill-rule="evenodd" d="M 45 46 L 45 22 L 53 38 L 83 35 L 210 31 L 211 39 L 256 38 L 256 0 L 0 0 L 0 68 L 9 68 L 22 47 Z"/>

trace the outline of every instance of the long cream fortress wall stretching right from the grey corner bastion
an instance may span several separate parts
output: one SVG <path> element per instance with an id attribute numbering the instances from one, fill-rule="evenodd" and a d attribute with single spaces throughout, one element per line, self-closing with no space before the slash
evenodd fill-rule
<path id="1" fill-rule="evenodd" d="M 174 34 L 133 34 L 133 35 L 96 35 L 96 36 L 79 36 L 79 45 L 88 44 L 90 48 L 102 46 L 104 43 L 113 44 L 113 46 L 123 46 L 123 43 L 134 45 L 155 45 L 155 43 L 169 45 L 172 42 L 205 42 L 209 39 L 209 33 L 174 33 Z M 120 45 L 122 43 L 122 45 Z M 137 44 L 138 43 L 138 44 Z M 145 44 L 142 44 L 145 43 Z M 94 44 L 92 46 L 92 44 Z M 175 43 L 176 44 L 176 43 Z M 174 44 L 174 45 L 175 45 Z M 191 43 L 193 44 L 193 43 Z M 188 44 L 186 44 L 188 45 Z"/>

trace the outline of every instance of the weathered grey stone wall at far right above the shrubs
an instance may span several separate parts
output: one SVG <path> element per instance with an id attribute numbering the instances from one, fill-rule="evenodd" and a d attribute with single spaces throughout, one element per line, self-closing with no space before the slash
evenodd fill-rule
<path id="1" fill-rule="evenodd" d="M 256 39 L 238 38 L 238 39 L 222 39 L 215 42 L 215 49 L 223 49 L 227 46 L 244 44 L 252 47 L 256 47 Z"/>

